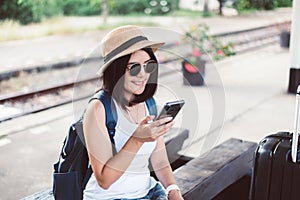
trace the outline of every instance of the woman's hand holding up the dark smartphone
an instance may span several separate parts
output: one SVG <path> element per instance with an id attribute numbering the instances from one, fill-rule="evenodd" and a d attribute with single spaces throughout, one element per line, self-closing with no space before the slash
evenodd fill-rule
<path id="1" fill-rule="evenodd" d="M 154 116 L 145 117 L 133 133 L 133 138 L 139 142 L 152 142 L 167 133 L 174 125 L 172 117 L 166 117 L 149 123 L 153 119 Z"/>

